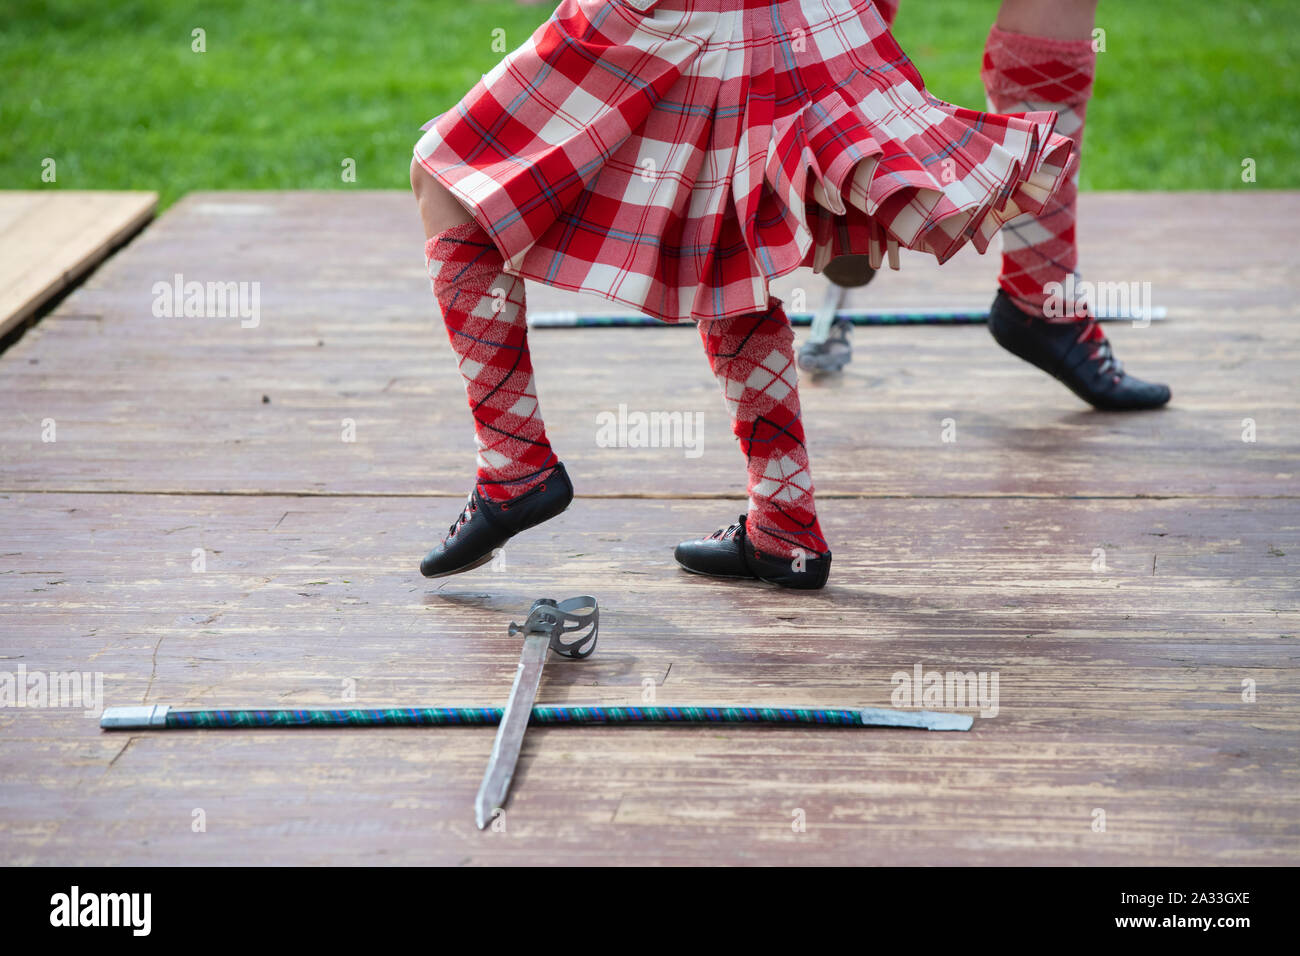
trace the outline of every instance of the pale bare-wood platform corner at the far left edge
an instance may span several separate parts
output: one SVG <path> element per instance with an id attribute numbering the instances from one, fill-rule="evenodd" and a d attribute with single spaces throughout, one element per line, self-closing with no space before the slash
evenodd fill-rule
<path id="1" fill-rule="evenodd" d="M 0 191 L 0 338 L 153 217 L 157 193 Z"/>

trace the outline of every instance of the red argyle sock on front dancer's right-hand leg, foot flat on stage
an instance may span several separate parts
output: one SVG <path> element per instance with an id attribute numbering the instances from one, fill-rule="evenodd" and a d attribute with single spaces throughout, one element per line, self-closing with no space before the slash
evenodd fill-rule
<path id="1" fill-rule="evenodd" d="M 749 463 L 749 540 L 766 554 L 824 554 L 800 416 L 794 330 L 781 303 L 701 321 L 699 334 Z"/>

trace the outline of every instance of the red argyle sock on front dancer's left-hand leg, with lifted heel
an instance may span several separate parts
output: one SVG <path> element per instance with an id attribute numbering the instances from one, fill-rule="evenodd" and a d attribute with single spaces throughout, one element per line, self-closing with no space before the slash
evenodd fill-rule
<path id="1" fill-rule="evenodd" d="M 477 222 L 434 235 L 424 254 L 474 416 L 478 492 L 493 501 L 516 498 L 559 462 L 537 406 L 524 280 L 504 272 Z"/>

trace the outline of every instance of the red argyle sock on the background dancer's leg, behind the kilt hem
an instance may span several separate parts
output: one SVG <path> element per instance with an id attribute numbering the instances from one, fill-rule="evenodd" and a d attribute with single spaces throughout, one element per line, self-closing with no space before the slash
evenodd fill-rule
<path id="1" fill-rule="evenodd" d="M 1079 264 L 1074 221 L 1079 195 L 1079 148 L 1083 120 L 1092 96 L 1097 55 L 1091 40 L 1057 40 L 1000 30 L 994 26 L 984 47 L 982 77 L 994 112 L 1023 113 L 1054 109 L 1057 133 L 1074 140 L 1074 172 L 1037 216 L 1019 216 L 1002 226 L 1002 274 L 998 285 L 1024 312 L 1044 316 L 1052 294 L 1044 287 L 1060 282 Z M 1075 286 L 1078 287 L 1078 286 Z M 1057 293 L 1060 294 L 1060 293 Z M 1082 319 L 1086 306 L 1065 302 L 1065 321 Z M 1078 307 L 1078 311 L 1075 310 Z"/>

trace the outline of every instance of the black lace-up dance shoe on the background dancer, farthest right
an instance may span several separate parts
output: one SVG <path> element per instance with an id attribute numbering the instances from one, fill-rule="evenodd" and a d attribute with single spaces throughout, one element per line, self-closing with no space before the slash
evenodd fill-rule
<path id="1" fill-rule="evenodd" d="M 1158 408 L 1169 401 L 1167 385 L 1134 378 L 1110 351 L 1096 319 L 1049 323 L 1022 312 L 997 290 L 988 312 L 988 330 L 1013 355 L 1065 382 L 1074 394 L 1102 411 Z"/>

